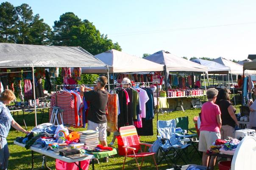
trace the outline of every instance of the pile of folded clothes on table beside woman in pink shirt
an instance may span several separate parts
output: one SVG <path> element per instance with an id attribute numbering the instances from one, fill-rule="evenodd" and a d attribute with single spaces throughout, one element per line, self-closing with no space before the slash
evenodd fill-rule
<path id="1" fill-rule="evenodd" d="M 207 150 L 208 153 L 234 155 L 240 140 L 228 138 L 228 140 L 217 139 Z"/>

